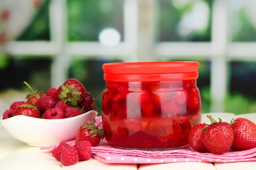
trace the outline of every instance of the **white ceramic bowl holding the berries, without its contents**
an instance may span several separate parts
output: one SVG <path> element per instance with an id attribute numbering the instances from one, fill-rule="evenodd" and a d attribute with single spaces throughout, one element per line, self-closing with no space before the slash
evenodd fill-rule
<path id="1" fill-rule="evenodd" d="M 97 116 L 96 111 L 89 111 L 67 119 L 38 119 L 18 115 L 9 119 L 0 118 L 3 127 L 16 139 L 29 146 L 47 146 L 67 142 L 76 138 L 79 127 L 91 122 Z"/>

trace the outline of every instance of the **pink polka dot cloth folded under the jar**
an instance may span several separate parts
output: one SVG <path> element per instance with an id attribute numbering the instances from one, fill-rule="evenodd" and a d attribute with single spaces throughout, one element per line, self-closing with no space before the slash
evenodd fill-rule
<path id="1" fill-rule="evenodd" d="M 101 122 L 97 117 L 96 124 Z M 70 145 L 75 141 L 68 142 Z M 52 150 L 58 144 L 40 147 L 41 150 Z M 191 147 L 177 150 L 147 151 L 147 150 L 125 150 L 112 146 L 102 140 L 96 147 L 91 147 L 93 158 L 105 163 L 123 164 L 156 164 L 172 162 L 240 162 L 256 161 L 256 148 L 244 151 L 229 150 L 223 155 L 212 153 L 199 153 Z"/>

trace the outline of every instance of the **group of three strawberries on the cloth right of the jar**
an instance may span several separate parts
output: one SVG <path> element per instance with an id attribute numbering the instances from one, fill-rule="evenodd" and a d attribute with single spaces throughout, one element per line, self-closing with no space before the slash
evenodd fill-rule
<path id="1" fill-rule="evenodd" d="M 256 147 L 256 124 L 245 118 L 232 119 L 230 123 L 212 122 L 195 125 L 189 131 L 190 146 L 201 153 L 211 152 L 222 155 L 228 150 L 248 150 Z"/>

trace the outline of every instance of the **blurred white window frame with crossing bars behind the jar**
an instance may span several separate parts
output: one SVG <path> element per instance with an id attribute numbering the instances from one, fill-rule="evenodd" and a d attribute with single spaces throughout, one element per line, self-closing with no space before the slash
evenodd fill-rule
<path id="1" fill-rule="evenodd" d="M 67 79 L 73 57 L 123 57 L 125 62 L 165 60 L 170 57 L 202 57 L 211 61 L 211 112 L 224 111 L 228 88 L 228 62 L 256 59 L 255 42 L 231 42 L 227 0 L 214 0 L 211 42 L 159 42 L 155 44 L 155 12 L 157 0 L 125 0 L 124 42 L 105 47 L 100 42 L 66 42 L 67 6 L 65 0 L 50 4 L 49 42 L 8 42 L 5 52 L 15 56 L 52 56 L 51 84 L 58 87 Z M 145 10 L 147 9 L 147 10 Z M 148 17 L 140 17 L 140 16 Z"/>

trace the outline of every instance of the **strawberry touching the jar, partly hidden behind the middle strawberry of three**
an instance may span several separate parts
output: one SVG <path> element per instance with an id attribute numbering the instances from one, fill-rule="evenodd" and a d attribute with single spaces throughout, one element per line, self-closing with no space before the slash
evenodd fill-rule
<path id="1" fill-rule="evenodd" d="M 189 131 L 189 145 L 196 151 L 201 153 L 209 152 L 207 148 L 202 143 L 202 134 L 203 134 L 203 128 L 206 127 L 206 123 L 195 125 L 190 131 Z"/>

